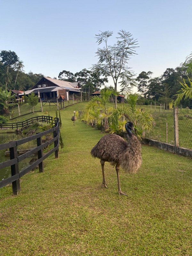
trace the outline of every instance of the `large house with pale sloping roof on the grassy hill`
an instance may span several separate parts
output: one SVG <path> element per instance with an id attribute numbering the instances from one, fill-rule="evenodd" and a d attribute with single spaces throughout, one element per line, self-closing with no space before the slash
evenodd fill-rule
<path id="1" fill-rule="evenodd" d="M 28 95 L 34 92 L 41 100 L 53 100 L 62 98 L 63 100 L 79 99 L 81 88 L 79 82 L 70 83 L 67 81 L 53 79 L 49 76 L 42 77 L 30 90 L 25 91 Z M 60 97 L 62 96 L 62 97 Z"/>

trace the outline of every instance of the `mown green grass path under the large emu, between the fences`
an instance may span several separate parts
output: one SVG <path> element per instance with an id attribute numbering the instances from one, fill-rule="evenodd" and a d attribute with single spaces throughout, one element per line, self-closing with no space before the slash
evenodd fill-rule
<path id="1" fill-rule="evenodd" d="M 142 146 L 140 172 L 120 173 L 128 196 L 118 195 L 110 164 L 108 189 L 101 188 L 100 161 L 90 151 L 103 135 L 70 120 L 83 107 L 61 112 L 59 159 L 23 176 L 19 196 L 0 189 L 0 255 L 192 255 L 191 159 Z"/>

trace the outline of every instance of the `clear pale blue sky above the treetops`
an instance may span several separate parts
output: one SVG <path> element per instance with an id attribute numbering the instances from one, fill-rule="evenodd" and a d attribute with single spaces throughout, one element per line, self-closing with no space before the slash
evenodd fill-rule
<path id="1" fill-rule="evenodd" d="M 53 78 L 91 68 L 98 61 L 95 34 L 106 30 L 114 33 L 111 45 L 120 29 L 138 40 L 128 63 L 137 76 L 160 76 L 192 52 L 191 0 L 0 0 L 0 9 L 0 51 L 16 52 L 26 73 Z"/>

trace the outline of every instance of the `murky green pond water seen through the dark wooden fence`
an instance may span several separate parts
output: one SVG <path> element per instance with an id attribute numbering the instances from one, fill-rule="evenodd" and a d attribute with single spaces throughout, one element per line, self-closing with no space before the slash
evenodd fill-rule
<path id="1" fill-rule="evenodd" d="M 0 144 L 15 140 L 15 133 L 0 133 Z M 20 138 L 17 138 L 19 140 Z M 4 161 L 8 161 L 10 159 L 9 156 L 5 156 L 6 150 L 0 150 L 0 163 Z M 34 158 L 34 155 L 22 160 L 19 163 L 19 170 L 23 170 L 25 167 L 29 165 L 29 161 Z M 0 180 L 4 180 L 11 176 L 11 166 L 0 169 Z"/>

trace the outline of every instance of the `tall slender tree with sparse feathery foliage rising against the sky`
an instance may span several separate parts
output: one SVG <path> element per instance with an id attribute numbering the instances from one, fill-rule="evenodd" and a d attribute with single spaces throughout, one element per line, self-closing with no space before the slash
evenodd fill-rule
<path id="1" fill-rule="evenodd" d="M 136 54 L 135 48 L 137 41 L 133 39 L 131 33 L 125 30 L 118 32 L 117 42 L 113 46 L 108 45 L 108 38 L 113 35 L 112 31 L 100 31 L 96 35 L 97 43 L 104 43 L 105 46 L 98 48 L 96 55 L 99 58 L 97 64 L 93 65 L 93 71 L 100 71 L 104 76 L 111 76 L 114 82 L 115 91 L 117 91 L 117 83 L 122 87 L 133 86 L 133 71 L 127 67 L 127 63 Z M 120 82 L 119 82 L 120 81 Z M 117 107 L 117 96 L 115 96 L 115 108 Z"/>

